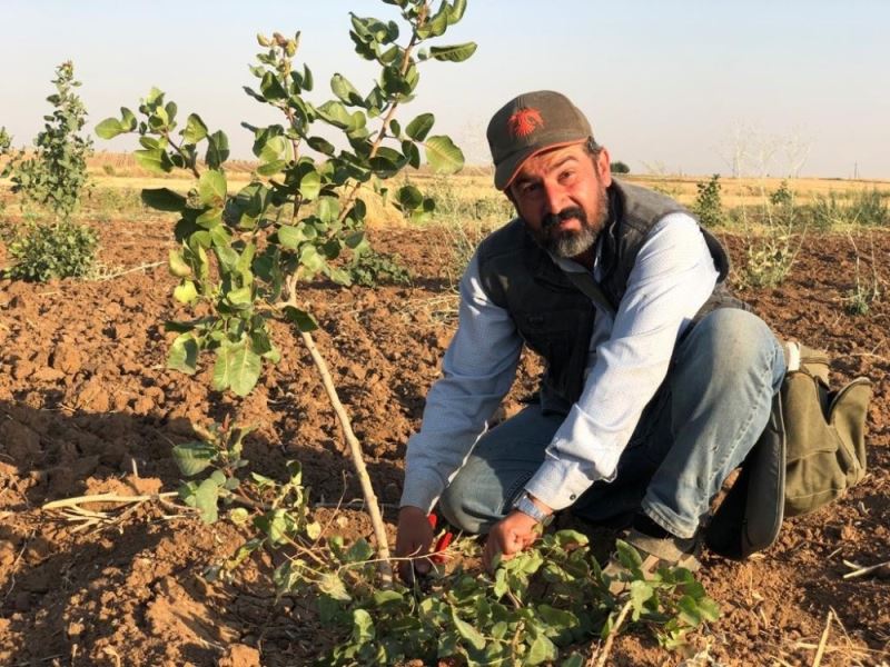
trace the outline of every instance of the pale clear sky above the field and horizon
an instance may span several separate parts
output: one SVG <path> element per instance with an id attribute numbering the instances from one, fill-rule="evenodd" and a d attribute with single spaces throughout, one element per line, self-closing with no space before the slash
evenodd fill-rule
<path id="1" fill-rule="evenodd" d="M 39 131 L 53 68 L 72 59 L 91 127 L 157 86 L 226 131 L 237 157 L 250 143 L 239 122 L 275 119 L 241 91 L 254 83 L 257 31 L 303 31 L 298 57 L 320 100 L 334 72 L 360 90 L 374 74 L 353 51 L 348 11 L 394 14 L 373 0 L 0 0 L 0 125 L 17 145 Z M 888 29 L 881 0 L 468 0 L 439 41 L 474 40 L 478 51 L 423 67 L 405 115 L 434 112 L 437 132 L 485 161 L 491 115 L 518 92 L 552 88 L 634 171 L 728 175 L 734 152 L 765 147 L 772 157 L 750 168 L 785 175 L 805 156 L 802 175 L 890 178 Z"/>

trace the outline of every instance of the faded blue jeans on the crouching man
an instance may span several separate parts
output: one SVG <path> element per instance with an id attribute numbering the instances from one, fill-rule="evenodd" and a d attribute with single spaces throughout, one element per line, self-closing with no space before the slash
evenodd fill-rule
<path id="1" fill-rule="evenodd" d="M 623 527 L 642 509 L 669 532 L 693 537 L 767 426 L 784 372 L 782 348 L 760 318 L 710 312 L 678 345 L 615 479 L 594 482 L 572 511 Z M 462 530 L 487 532 L 541 466 L 564 418 L 533 405 L 486 432 L 439 499 L 442 515 Z"/>

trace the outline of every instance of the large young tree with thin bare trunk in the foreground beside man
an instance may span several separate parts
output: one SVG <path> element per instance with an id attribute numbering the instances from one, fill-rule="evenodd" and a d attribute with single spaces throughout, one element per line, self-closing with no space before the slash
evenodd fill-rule
<path id="1" fill-rule="evenodd" d="M 333 262 L 342 252 L 365 243 L 366 205 L 359 197 L 364 187 L 392 196 L 394 203 L 414 218 L 422 219 L 434 209 L 433 200 L 416 187 L 407 185 L 389 193 L 384 181 L 406 167 L 419 167 L 422 150 L 431 168 L 443 173 L 458 170 L 463 153 L 448 137 L 429 135 L 435 123 L 432 113 L 421 113 L 403 127 L 396 111 L 414 98 L 422 61 L 461 62 L 473 54 L 476 44 L 424 46 L 461 20 L 465 0 L 384 2 L 398 7 L 407 36 L 399 41 L 404 28 L 396 21 L 352 14 L 349 36 L 355 50 L 376 62 L 380 73 L 364 92 L 335 73 L 330 79 L 334 98 L 323 103 L 308 99 L 314 88 L 309 68 L 294 62 L 299 33 L 293 39 L 279 33 L 258 36 L 266 49 L 250 68 L 258 89 L 245 90 L 277 109 L 283 122 L 265 127 L 243 123 L 254 135 L 259 166 L 253 181 L 235 196 L 228 192 L 225 172 L 229 156 L 226 135 L 211 132 L 196 113 L 179 129 L 177 106 L 165 101 L 160 90 L 152 89 L 139 107 L 142 120 L 123 108 L 119 119 L 106 119 L 96 130 L 105 139 L 136 132 L 140 165 L 164 173 L 181 169 L 195 177 L 195 186 L 186 195 L 166 188 L 142 191 L 148 206 L 180 217 L 176 225 L 180 247 L 170 253 L 170 271 L 180 279 L 175 298 L 189 306 L 201 305 L 211 313 L 168 325 L 179 334 L 168 366 L 194 374 L 200 352 L 211 351 L 216 357 L 214 387 L 246 396 L 264 365 L 280 357 L 269 322 L 289 323 L 309 350 L 339 419 L 367 500 L 384 574 L 389 577 L 389 552 L 376 496 L 359 442 L 312 337 L 317 323 L 299 285 L 319 275 L 349 282 L 348 272 Z M 318 126 L 326 136 L 338 132 L 342 148 L 319 133 Z M 225 477 L 215 479 L 222 488 Z M 208 478 L 202 486 L 214 484 Z M 204 497 L 216 504 L 212 489 Z"/>

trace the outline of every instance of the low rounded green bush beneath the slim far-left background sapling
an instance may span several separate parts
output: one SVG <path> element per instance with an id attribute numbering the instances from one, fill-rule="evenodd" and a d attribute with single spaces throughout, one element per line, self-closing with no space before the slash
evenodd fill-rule
<path id="1" fill-rule="evenodd" d="M 96 232 L 85 225 L 67 220 L 31 225 L 9 246 L 16 260 L 9 276 L 38 282 L 86 276 L 96 262 L 97 246 Z"/>

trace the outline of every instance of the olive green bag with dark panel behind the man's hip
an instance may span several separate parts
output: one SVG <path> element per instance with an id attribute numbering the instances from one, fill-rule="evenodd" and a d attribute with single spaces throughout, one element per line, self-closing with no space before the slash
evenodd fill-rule
<path id="1" fill-rule="evenodd" d="M 810 514 L 866 475 L 871 382 L 831 390 L 825 352 L 787 342 L 785 357 L 770 421 L 708 528 L 708 546 L 729 558 L 765 549 L 783 517 Z"/>

